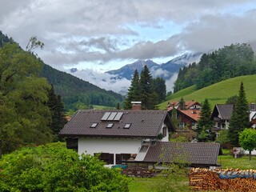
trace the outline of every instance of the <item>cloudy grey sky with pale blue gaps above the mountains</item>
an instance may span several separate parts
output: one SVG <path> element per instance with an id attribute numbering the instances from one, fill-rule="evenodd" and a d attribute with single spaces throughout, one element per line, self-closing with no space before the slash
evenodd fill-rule
<path id="1" fill-rule="evenodd" d="M 118 69 L 167 62 L 256 40 L 255 0 L 0 0 L 0 30 L 57 69 Z"/>

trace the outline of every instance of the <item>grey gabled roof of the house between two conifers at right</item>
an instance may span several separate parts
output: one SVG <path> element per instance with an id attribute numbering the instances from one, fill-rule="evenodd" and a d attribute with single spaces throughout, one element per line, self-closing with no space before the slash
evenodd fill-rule
<path id="1" fill-rule="evenodd" d="M 218 117 L 220 115 L 220 118 L 228 120 L 231 118 L 232 112 L 232 104 L 217 104 L 214 106 L 212 117 Z"/>

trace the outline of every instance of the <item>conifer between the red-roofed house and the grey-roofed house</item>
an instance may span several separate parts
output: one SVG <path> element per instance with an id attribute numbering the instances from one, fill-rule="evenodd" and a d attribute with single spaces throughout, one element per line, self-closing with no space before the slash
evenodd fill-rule
<path id="1" fill-rule="evenodd" d="M 196 132 L 198 134 L 198 141 L 205 142 L 206 140 L 214 140 L 214 134 L 211 133 L 211 128 L 214 122 L 211 120 L 211 108 L 208 99 L 202 102 L 202 109 L 200 110 L 200 118 Z"/>

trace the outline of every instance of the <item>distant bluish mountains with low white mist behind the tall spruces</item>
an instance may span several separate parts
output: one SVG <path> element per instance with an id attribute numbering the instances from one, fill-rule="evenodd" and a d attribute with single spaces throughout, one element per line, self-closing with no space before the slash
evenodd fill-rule
<path id="1" fill-rule="evenodd" d="M 170 91 L 173 90 L 174 82 L 178 76 L 178 70 L 191 62 L 198 62 L 201 55 L 200 53 L 186 53 L 162 64 L 155 63 L 151 60 L 138 60 L 137 62 L 122 66 L 118 70 L 110 70 L 104 74 L 98 74 L 93 70 L 77 70 L 76 68 L 70 69 L 69 73 L 106 90 L 126 94 L 134 70 L 137 69 L 140 74 L 143 67 L 146 65 L 153 78 L 161 77 L 166 80 L 167 91 Z"/>

